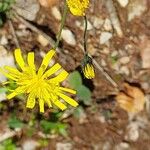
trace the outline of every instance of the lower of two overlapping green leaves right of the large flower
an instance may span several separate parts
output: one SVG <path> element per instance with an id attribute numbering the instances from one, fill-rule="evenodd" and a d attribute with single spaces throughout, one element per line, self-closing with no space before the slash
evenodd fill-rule
<path id="1" fill-rule="evenodd" d="M 85 105 L 91 104 L 91 91 L 86 86 L 81 85 L 80 87 L 78 87 L 77 95 Z"/>

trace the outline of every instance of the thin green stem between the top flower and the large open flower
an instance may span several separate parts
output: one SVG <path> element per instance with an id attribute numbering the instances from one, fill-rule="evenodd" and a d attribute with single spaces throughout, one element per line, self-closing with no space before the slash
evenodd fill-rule
<path id="1" fill-rule="evenodd" d="M 61 32 L 62 32 L 62 29 L 64 28 L 67 12 L 68 12 L 68 6 L 67 6 L 66 0 L 65 0 L 64 12 L 63 12 L 63 16 L 61 19 L 61 26 L 60 26 L 60 30 L 59 30 L 58 35 L 57 35 L 57 41 L 54 45 L 54 49 L 56 49 L 59 45 L 60 38 L 61 38 Z"/>

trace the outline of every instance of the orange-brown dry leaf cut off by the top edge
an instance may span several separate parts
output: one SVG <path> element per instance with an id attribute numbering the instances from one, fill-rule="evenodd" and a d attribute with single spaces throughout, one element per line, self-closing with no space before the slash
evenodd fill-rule
<path id="1" fill-rule="evenodd" d="M 39 0 L 41 6 L 49 8 L 58 3 L 58 0 Z"/>

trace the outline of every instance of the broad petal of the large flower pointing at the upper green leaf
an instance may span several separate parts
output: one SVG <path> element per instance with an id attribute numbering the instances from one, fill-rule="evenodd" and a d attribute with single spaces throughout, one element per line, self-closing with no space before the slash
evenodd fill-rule
<path id="1" fill-rule="evenodd" d="M 67 71 L 65 71 L 65 70 L 63 70 L 60 74 L 58 74 L 56 77 L 54 77 L 54 78 L 52 78 L 52 79 L 50 79 L 50 80 L 48 80 L 49 82 L 62 82 L 62 81 L 64 81 L 66 78 L 67 78 L 67 76 L 68 76 L 69 74 L 68 74 L 68 72 Z"/>

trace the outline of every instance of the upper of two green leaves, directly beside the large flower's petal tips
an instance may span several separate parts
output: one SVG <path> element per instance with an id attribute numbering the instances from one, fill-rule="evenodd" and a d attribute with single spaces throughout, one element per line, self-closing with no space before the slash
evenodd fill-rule
<path id="1" fill-rule="evenodd" d="M 74 71 L 69 75 L 69 84 L 75 89 L 82 85 L 82 78 L 78 71 Z"/>

